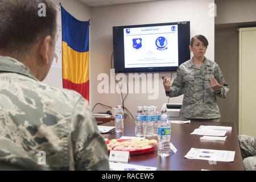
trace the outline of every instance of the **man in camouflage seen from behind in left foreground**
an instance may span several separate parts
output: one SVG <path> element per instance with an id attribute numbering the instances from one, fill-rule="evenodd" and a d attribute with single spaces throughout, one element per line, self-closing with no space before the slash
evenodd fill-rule
<path id="1" fill-rule="evenodd" d="M 88 102 L 41 82 L 55 55 L 53 2 L 0 0 L 0 17 L 0 170 L 109 170 Z"/>

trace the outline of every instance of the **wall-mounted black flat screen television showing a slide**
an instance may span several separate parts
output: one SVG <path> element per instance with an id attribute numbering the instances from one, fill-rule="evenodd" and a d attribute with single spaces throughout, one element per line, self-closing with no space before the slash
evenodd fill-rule
<path id="1" fill-rule="evenodd" d="M 113 27 L 116 73 L 176 71 L 190 59 L 187 22 Z"/>

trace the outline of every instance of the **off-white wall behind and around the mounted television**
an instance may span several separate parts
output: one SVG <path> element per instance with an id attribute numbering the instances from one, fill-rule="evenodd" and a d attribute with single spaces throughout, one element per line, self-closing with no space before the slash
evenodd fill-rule
<path id="1" fill-rule="evenodd" d="M 121 104 L 120 94 L 100 94 L 97 92 L 97 80 L 100 73 L 110 76 L 110 57 L 113 52 L 112 27 L 133 24 L 164 23 L 189 20 L 191 22 L 191 37 L 196 34 L 205 35 L 209 41 L 207 56 L 214 60 L 214 16 L 209 16 L 209 4 L 213 0 L 173 0 L 131 3 L 127 5 L 113 5 L 94 7 L 91 9 L 90 26 L 90 77 L 91 104 L 97 102 L 116 106 Z M 148 93 L 129 94 L 125 106 L 135 113 L 139 105 L 156 105 L 159 107 L 167 102 L 162 76 L 170 77 L 170 72 L 159 74 L 159 84 L 155 86 L 159 97 L 157 100 L 148 100 Z M 175 77 L 175 74 L 172 78 Z M 182 97 L 172 98 L 170 102 L 181 103 Z M 106 111 L 108 108 L 97 106 L 95 111 Z"/>

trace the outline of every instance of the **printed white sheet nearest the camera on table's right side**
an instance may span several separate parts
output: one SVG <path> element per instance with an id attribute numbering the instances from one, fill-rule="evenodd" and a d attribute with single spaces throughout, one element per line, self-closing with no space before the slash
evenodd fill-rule
<path id="1" fill-rule="evenodd" d="M 188 151 L 188 154 L 185 155 L 185 158 L 209 160 L 214 162 L 233 162 L 234 155 L 235 151 L 191 148 L 191 150 Z"/>

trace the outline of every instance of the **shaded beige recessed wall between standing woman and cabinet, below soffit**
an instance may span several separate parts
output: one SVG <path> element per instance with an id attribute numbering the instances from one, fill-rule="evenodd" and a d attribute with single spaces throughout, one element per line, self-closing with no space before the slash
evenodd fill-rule
<path id="1" fill-rule="evenodd" d="M 238 34 L 237 27 L 217 28 L 215 61 L 220 65 L 230 89 L 226 98 L 218 98 L 221 122 L 233 122 L 238 131 Z"/>

